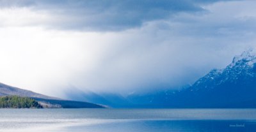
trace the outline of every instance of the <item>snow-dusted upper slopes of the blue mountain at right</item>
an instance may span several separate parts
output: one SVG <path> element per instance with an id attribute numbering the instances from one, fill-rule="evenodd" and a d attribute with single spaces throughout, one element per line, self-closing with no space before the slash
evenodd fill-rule
<path id="1" fill-rule="evenodd" d="M 244 84 L 255 80 L 256 77 L 256 52 L 248 50 L 234 57 L 231 64 L 225 69 L 210 71 L 205 77 L 200 78 L 191 90 L 212 89 L 225 83 Z M 256 83 L 256 82 L 255 82 Z"/>

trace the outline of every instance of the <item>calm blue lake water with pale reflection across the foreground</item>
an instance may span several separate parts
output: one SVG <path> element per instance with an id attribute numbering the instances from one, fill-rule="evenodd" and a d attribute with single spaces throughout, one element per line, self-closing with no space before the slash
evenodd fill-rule
<path id="1" fill-rule="evenodd" d="M 0 109 L 0 131 L 256 131 L 256 109 Z"/>

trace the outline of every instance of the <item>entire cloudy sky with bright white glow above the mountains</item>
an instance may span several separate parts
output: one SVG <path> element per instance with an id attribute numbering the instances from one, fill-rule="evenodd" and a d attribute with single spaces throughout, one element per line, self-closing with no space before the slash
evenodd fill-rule
<path id="1" fill-rule="evenodd" d="M 65 89 L 179 89 L 256 47 L 256 1 L 2 0 L 0 82 Z"/>

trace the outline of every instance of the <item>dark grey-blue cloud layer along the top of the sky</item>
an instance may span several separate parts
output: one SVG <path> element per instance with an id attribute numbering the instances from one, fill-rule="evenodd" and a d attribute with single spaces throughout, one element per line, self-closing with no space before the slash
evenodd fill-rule
<path id="1" fill-rule="evenodd" d="M 203 11 L 199 4 L 218 0 L 11 0 L 0 1 L 2 7 L 21 6 L 47 11 L 55 16 L 45 27 L 82 31 L 120 31 L 140 27 L 143 22 L 170 18 L 175 13 Z M 225 1 L 225 0 L 223 0 Z"/>

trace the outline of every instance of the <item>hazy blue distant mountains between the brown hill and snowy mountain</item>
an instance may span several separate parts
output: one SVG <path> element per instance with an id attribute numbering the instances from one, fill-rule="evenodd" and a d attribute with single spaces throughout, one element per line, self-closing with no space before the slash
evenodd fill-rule
<path id="1" fill-rule="evenodd" d="M 83 92 L 70 89 L 66 91 L 68 99 L 89 101 L 113 108 L 166 108 L 177 91 L 155 91 L 147 93 L 132 93 L 127 96 L 114 93 Z"/>

